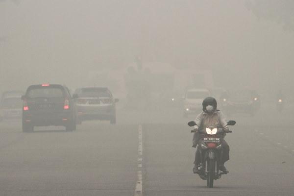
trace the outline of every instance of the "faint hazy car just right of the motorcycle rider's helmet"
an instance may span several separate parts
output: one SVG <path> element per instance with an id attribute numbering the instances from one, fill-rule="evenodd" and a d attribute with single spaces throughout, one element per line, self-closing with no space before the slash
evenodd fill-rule
<path id="1" fill-rule="evenodd" d="M 231 90 L 221 96 L 222 109 L 226 114 L 247 113 L 254 116 L 260 104 L 260 97 L 253 90 Z"/>

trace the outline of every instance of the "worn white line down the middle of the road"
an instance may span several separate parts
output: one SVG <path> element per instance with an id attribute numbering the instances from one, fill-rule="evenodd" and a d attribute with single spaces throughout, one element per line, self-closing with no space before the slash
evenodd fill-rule
<path id="1" fill-rule="evenodd" d="M 137 183 L 135 188 L 134 196 L 142 196 L 143 195 L 143 186 L 142 186 L 142 161 L 143 161 L 143 140 L 142 140 L 142 125 L 140 124 L 138 127 L 138 171 L 137 171 Z"/>

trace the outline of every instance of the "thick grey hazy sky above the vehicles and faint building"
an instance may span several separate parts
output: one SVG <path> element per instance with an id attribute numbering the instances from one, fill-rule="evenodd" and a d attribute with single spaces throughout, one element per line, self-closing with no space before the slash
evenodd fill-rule
<path id="1" fill-rule="evenodd" d="M 42 82 L 89 85 L 89 72 L 125 70 L 137 55 L 143 63 L 211 68 L 216 86 L 293 88 L 294 32 L 257 17 L 250 6 L 243 0 L 0 1 L 0 91 Z"/>

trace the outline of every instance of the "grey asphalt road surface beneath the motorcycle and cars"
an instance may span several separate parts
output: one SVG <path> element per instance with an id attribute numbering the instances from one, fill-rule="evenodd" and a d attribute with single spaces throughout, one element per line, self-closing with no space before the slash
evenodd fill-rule
<path id="1" fill-rule="evenodd" d="M 278 123 L 236 117 L 226 137 L 230 172 L 207 189 L 192 173 L 195 149 L 186 123 L 193 117 L 163 113 L 119 112 L 116 125 L 85 122 L 73 132 L 23 133 L 19 122 L 1 122 L 0 196 L 134 196 L 138 171 L 144 196 L 294 195 L 294 133 L 282 122 L 288 116 Z"/>

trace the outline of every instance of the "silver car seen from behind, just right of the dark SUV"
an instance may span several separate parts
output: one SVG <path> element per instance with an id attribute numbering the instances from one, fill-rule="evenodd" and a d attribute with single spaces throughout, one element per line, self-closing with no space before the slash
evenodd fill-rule
<path id="1" fill-rule="evenodd" d="M 75 91 L 78 98 L 75 100 L 78 121 L 106 120 L 111 124 L 116 123 L 116 102 L 108 88 L 88 87 Z"/>

